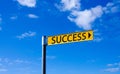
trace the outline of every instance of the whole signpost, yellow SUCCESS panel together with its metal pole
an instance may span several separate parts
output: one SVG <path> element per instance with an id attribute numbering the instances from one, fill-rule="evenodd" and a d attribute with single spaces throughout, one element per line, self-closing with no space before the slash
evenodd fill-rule
<path id="1" fill-rule="evenodd" d="M 46 74 L 46 47 L 47 45 L 65 44 L 93 40 L 93 31 L 74 32 L 56 36 L 42 36 L 42 74 Z"/>

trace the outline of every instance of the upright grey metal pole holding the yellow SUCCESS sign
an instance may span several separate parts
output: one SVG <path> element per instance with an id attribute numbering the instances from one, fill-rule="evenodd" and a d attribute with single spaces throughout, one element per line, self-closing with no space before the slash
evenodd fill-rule
<path id="1" fill-rule="evenodd" d="M 46 74 L 46 36 L 42 36 L 42 74 Z"/>

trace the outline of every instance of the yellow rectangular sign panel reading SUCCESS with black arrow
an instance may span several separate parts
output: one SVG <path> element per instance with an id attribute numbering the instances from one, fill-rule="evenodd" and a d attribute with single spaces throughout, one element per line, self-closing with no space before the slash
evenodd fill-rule
<path id="1" fill-rule="evenodd" d="M 48 36 L 47 44 L 64 44 L 71 42 L 80 42 L 80 41 L 88 41 L 93 40 L 93 31 L 84 31 L 84 32 L 74 32 L 70 34 L 61 34 L 56 36 Z"/>

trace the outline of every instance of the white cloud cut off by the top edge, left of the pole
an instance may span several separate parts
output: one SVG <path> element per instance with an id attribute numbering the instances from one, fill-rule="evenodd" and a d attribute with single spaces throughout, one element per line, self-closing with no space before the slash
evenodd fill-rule
<path id="1" fill-rule="evenodd" d="M 35 7 L 36 6 L 36 0 L 17 0 L 17 1 L 22 6 L 27 6 L 27 7 Z"/>

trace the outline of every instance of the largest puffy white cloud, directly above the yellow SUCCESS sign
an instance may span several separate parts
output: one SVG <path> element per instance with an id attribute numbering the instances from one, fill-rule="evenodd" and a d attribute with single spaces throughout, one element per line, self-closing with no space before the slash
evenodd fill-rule
<path id="1" fill-rule="evenodd" d="M 84 11 L 72 11 L 71 15 L 68 16 L 68 19 L 72 22 L 75 22 L 78 27 L 85 30 L 92 28 L 92 23 L 100 18 L 103 14 L 103 9 L 101 6 L 96 6 L 89 10 Z"/>

